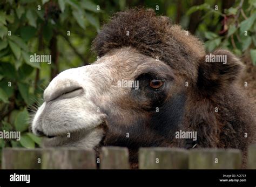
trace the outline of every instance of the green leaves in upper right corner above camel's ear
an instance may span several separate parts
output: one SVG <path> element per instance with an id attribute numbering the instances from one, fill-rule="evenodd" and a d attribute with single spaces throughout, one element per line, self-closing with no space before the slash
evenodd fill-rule
<path id="1" fill-rule="evenodd" d="M 215 30 L 212 32 L 205 31 L 205 29 L 199 28 L 198 35 L 203 35 L 208 40 L 205 43 L 206 49 L 210 52 L 214 51 L 217 48 L 229 49 L 233 51 L 235 54 L 240 56 L 242 53 L 246 51 L 250 51 L 250 49 L 255 49 L 256 46 L 256 7 L 255 1 L 244 2 L 244 4 L 240 4 L 240 1 L 237 1 L 231 8 L 224 10 L 225 13 L 220 12 L 220 6 L 218 6 L 217 10 L 215 9 L 214 3 L 204 3 L 198 6 L 192 6 L 187 14 L 190 15 L 192 12 L 196 11 L 205 11 L 208 12 L 208 16 L 217 16 L 218 19 L 223 19 L 221 24 L 221 29 L 216 26 Z M 210 28 L 213 26 L 212 22 L 208 22 L 208 19 L 203 20 L 201 24 L 205 24 L 206 27 Z M 201 33 L 200 33 L 201 32 Z M 216 33 L 222 34 L 216 34 Z M 251 50 L 251 59 L 255 64 L 255 56 Z"/>

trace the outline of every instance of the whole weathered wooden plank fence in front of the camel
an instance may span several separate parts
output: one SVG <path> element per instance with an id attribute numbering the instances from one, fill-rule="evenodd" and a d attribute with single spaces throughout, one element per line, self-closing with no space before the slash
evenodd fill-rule
<path id="1" fill-rule="evenodd" d="M 140 148 L 139 169 L 241 169 L 238 149 Z M 123 147 L 94 150 L 75 148 L 5 148 L 2 169 L 129 169 Z M 256 169 L 256 144 L 248 147 L 247 168 Z"/>

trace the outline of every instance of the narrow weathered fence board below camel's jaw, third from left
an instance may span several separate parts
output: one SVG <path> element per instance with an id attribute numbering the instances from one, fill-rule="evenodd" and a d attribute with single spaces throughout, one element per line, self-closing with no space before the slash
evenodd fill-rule
<path id="1" fill-rule="evenodd" d="M 100 151 L 100 169 L 129 169 L 129 151 L 124 147 L 103 147 Z"/>

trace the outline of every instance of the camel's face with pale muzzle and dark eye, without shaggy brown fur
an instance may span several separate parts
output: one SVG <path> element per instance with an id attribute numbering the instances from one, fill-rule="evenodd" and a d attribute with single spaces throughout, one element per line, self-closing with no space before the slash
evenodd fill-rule
<path id="1" fill-rule="evenodd" d="M 131 47 L 114 50 L 92 65 L 58 74 L 44 91 L 32 130 L 44 136 L 45 146 L 83 148 L 97 146 L 103 137 L 129 138 L 131 129 L 149 135 L 148 116 L 177 92 L 178 83 L 160 60 Z"/>

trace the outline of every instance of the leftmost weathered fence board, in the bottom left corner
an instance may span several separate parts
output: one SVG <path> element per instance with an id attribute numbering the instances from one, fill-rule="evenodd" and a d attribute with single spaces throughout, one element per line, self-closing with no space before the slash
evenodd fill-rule
<path id="1" fill-rule="evenodd" d="M 41 169 L 42 149 L 4 148 L 2 169 Z"/>

